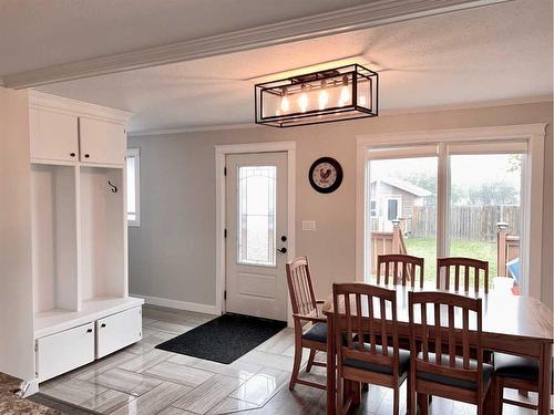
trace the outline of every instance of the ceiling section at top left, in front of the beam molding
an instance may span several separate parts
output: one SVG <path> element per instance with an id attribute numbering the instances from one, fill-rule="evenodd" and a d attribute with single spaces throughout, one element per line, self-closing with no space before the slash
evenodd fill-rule
<path id="1" fill-rule="evenodd" d="M 368 0 L 2 0 L 0 74 L 227 33 Z"/>

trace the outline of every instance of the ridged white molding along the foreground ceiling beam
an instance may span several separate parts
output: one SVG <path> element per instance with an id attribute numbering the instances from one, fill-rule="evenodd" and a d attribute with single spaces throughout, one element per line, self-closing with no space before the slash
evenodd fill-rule
<path id="1" fill-rule="evenodd" d="M 110 73 L 191 61 L 320 38 L 376 25 L 513 0 L 380 0 L 342 10 L 155 48 L 4 74 L 6 86 L 24 89 Z"/>

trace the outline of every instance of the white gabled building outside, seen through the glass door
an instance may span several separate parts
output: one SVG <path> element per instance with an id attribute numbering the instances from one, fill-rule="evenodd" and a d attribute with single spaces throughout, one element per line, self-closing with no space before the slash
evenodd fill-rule
<path id="1" fill-rule="evenodd" d="M 399 178 L 380 177 L 371 180 L 371 229 L 392 230 L 391 220 L 410 219 L 414 206 L 424 206 L 432 193 Z M 410 231 L 410 220 L 403 230 Z"/>

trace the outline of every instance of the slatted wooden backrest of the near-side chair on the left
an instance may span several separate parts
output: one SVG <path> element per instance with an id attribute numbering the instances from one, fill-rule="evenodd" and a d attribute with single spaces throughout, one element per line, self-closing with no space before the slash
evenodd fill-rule
<path id="1" fill-rule="evenodd" d="M 342 344 L 337 347 L 339 365 L 345 359 L 353 359 L 392 366 L 398 376 L 397 292 L 365 283 L 335 283 L 332 301 L 336 344 Z M 365 347 L 361 340 L 368 338 Z"/>

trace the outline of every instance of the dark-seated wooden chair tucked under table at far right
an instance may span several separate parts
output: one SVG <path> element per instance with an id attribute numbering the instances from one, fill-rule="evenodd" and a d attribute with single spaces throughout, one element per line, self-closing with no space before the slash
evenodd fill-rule
<path id="1" fill-rule="evenodd" d="M 538 361 L 529 357 L 514 356 L 505 353 L 494 353 L 494 396 L 496 398 L 495 415 L 502 415 L 504 403 L 524 407 L 527 409 L 538 409 L 537 405 L 504 398 L 504 388 L 541 393 L 538 387 Z"/>

